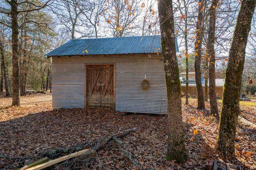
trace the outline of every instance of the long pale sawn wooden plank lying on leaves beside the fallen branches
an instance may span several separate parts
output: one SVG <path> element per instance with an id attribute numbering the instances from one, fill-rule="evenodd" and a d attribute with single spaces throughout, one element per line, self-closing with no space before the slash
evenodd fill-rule
<path id="1" fill-rule="evenodd" d="M 28 168 L 26 170 L 41 170 L 43 168 L 52 166 L 54 164 L 58 164 L 60 162 L 63 162 L 64 160 L 67 160 L 69 158 L 74 158 L 76 156 L 80 156 L 80 155 L 86 154 L 87 152 L 90 152 L 90 151 L 91 151 L 91 149 L 81 150 L 81 151 L 75 152 L 75 153 L 70 154 L 70 155 L 66 155 L 66 156 L 62 156 L 62 157 L 57 158 L 57 159 L 50 160 L 49 162 L 46 162 L 46 163 L 43 163 L 43 164 L 40 164 L 40 165 L 31 167 L 31 168 Z"/>

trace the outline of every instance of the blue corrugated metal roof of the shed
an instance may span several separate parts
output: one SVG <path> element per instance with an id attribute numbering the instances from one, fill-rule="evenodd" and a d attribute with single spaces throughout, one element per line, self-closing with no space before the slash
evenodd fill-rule
<path id="1" fill-rule="evenodd" d="M 175 38 L 176 51 L 179 51 Z M 161 53 L 161 36 L 75 39 L 46 54 L 50 56 Z"/>

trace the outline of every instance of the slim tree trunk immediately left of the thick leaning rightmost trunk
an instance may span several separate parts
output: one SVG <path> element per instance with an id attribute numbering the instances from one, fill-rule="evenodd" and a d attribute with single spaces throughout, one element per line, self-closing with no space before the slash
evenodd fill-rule
<path id="1" fill-rule="evenodd" d="M 219 117 L 218 104 L 216 100 L 216 89 L 215 89 L 215 52 L 214 52 L 214 41 L 215 41 L 215 22 L 216 22 L 216 6 L 218 0 L 213 0 L 210 7 L 210 24 L 209 24 L 209 37 L 208 37 L 208 52 L 210 57 L 209 63 L 209 98 L 211 114 Z"/>

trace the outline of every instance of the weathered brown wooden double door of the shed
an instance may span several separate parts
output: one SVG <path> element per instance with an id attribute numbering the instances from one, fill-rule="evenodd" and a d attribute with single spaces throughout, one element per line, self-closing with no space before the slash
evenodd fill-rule
<path id="1" fill-rule="evenodd" d="M 87 107 L 115 106 L 114 65 L 86 65 Z"/>

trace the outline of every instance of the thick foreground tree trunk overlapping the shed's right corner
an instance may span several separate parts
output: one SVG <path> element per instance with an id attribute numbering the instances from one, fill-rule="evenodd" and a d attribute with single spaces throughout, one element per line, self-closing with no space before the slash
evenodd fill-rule
<path id="1" fill-rule="evenodd" d="M 158 1 L 158 11 L 167 89 L 168 139 L 166 158 L 167 160 L 183 162 L 186 157 L 186 149 L 183 138 L 181 87 L 175 52 L 172 1 Z"/>

